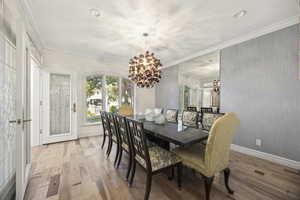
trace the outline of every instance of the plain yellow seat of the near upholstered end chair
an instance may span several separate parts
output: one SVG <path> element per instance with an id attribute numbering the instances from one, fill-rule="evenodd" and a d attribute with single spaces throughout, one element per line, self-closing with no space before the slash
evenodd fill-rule
<path id="1" fill-rule="evenodd" d="M 173 150 L 181 159 L 182 163 L 188 167 L 195 169 L 205 176 L 211 176 L 209 170 L 205 166 L 204 155 L 205 146 L 195 144 L 190 147 L 179 147 Z"/>

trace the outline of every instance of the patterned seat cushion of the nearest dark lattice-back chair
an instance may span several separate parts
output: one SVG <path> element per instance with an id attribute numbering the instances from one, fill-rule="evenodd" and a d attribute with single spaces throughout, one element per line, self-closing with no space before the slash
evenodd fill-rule
<path id="1" fill-rule="evenodd" d="M 149 148 L 149 156 L 151 160 L 152 172 L 175 165 L 181 162 L 181 159 L 173 152 L 167 151 L 159 146 Z M 146 162 L 139 156 L 136 160 L 146 168 Z"/>

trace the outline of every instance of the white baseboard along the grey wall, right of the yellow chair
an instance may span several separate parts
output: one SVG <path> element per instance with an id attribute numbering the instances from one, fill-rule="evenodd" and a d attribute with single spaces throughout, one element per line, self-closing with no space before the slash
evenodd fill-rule
<path id="1" fill-rule="evenodd" d="M 290 159 L 276 156 L 273 154 L 257 151 L 254 149 L 249 149 L 247 147 L 242 147 L 242 146 L 239 146 L 236 144 L 232 144 L 231 149 L 234 151 L 240 152 L 240 153 L 255 156 L 257 158 L 261 158 L 261 159 L 268 160 L 268 161 L 271 161 L 271 162 L 274 162 L 277 164 L 281 164 L 281 165 L 284 165 L 284 166 L 287 166 L 287 167 L 290 167 L 293 169 L 300 170 L 300 162 L 295 161 L 295 160 L 290 160 Z"/>

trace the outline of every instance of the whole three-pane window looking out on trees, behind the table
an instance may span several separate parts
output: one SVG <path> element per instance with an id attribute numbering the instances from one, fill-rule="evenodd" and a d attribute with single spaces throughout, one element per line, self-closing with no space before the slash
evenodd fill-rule
<path id="1" fill-rule="evenodd" d="M 118 76 L 93 75 L 86 78 L 86 123 L 101 121 L 100 111 L 118 113 L 120 105 L 134 108 L 134 84 Z"/>

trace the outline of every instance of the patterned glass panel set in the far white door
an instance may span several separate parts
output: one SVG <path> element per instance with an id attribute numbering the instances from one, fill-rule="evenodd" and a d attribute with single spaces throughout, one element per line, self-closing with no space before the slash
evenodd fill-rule
<path id="1" fill-rule="evenodd" d="M 50 74 L 50 135 L 71 132 L 71 76 Z"/>

